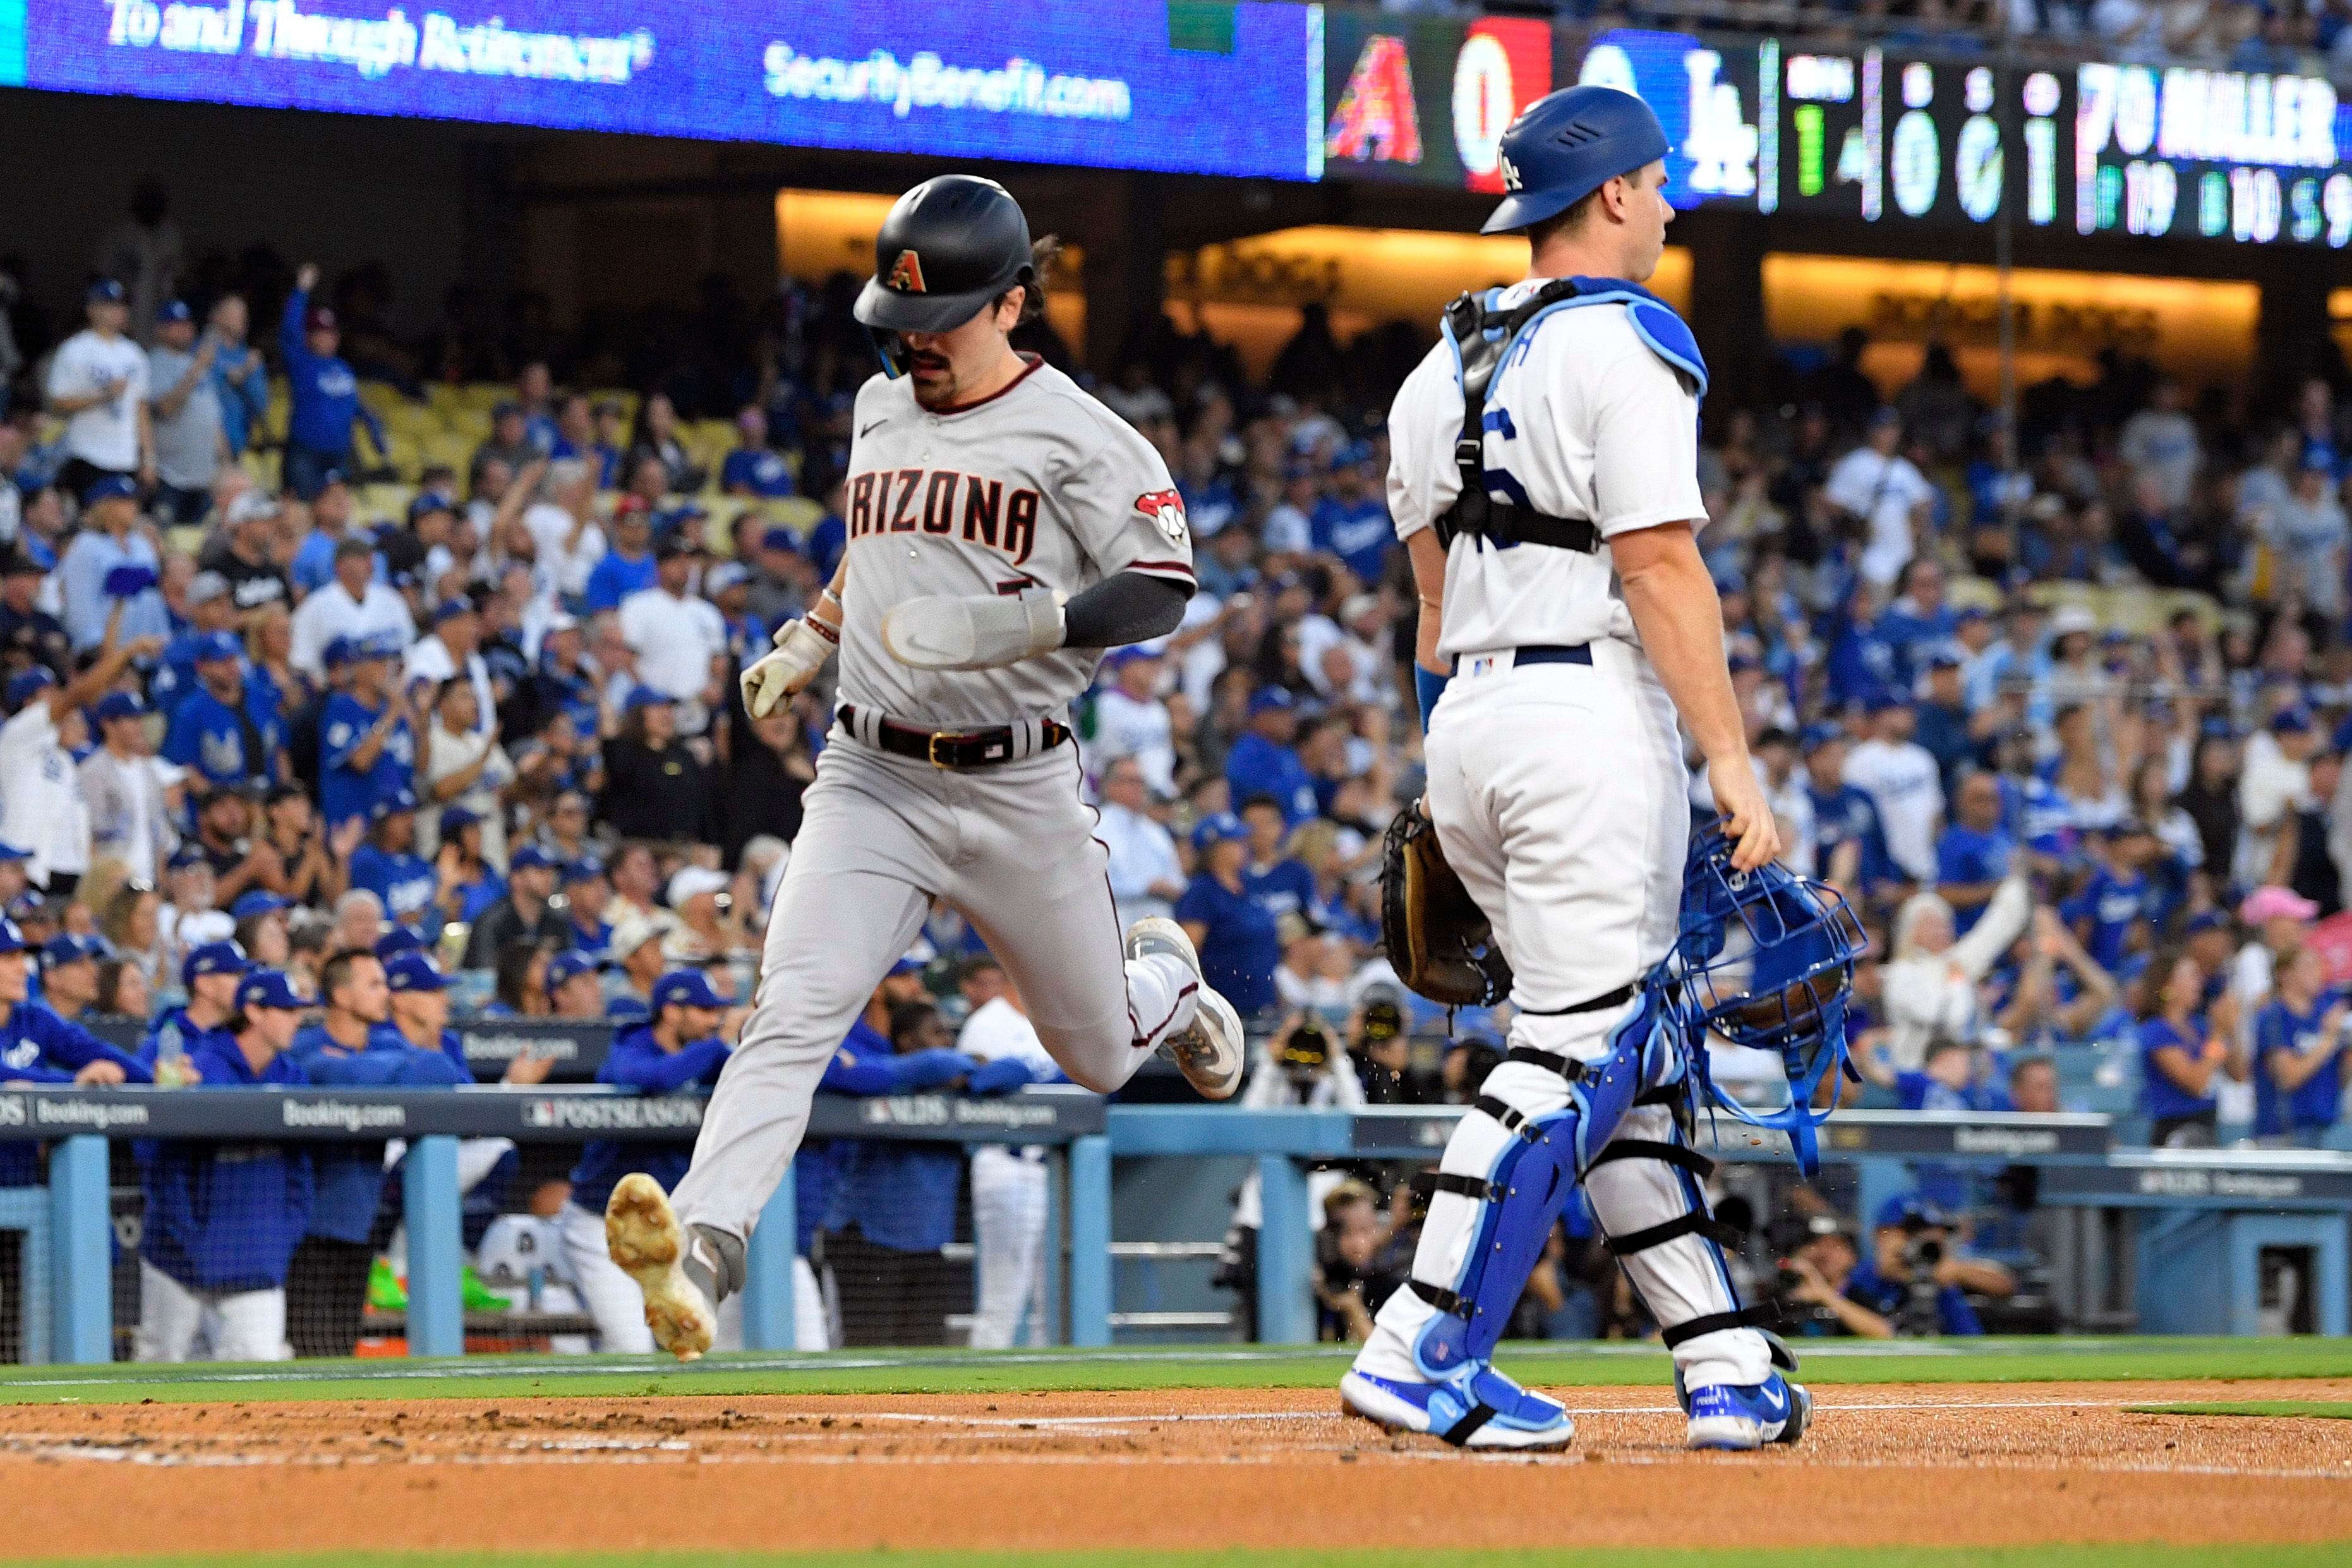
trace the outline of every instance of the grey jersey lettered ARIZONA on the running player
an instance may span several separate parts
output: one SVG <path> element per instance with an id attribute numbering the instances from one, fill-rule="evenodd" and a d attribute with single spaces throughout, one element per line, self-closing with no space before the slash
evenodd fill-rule
<path id="1" fill-rule="evenodd" d="M 842 701 L 908 724 L 1065 719 L 1103 654 L 913 670 L 882 646 L 891 604 L 1033 583 L 1075 597 L 1120 571 L 1192 585 L 1192 536 L 1160 451 L 1042 360 L 960 409 L 924 409 L 913 381 L 870 378 L 842 510 Z"/>

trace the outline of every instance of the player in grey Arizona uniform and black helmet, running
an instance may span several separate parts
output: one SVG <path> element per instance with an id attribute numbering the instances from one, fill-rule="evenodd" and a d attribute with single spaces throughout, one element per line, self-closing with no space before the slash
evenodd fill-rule
<path id="1" fill-rule="evenodd" d="M 710 1345 L 743 1244 L 809 1124 L 809 1098 L 934 896 L 983 936 L 1061 1070 L 1108 1093 L 1152 1051 L 1223 1100 L 1242 1023 L 1169 919 L 1122 945 L 1108 851 L 1080 797 L 1070 698 L 1103 649 L 1176 630 L 1192 541 L 1150 442 L 1009 331 L 1044 310 L 1042 252 L 997 183 L 908 190 L 856 303 L 884 376 L 858 390 L 849 545 L 809 616 L 743 672 L 760 719 L 842 654 L 833 741 L 776 891 L 760 990 L 663 1197 L 623 1178 L 614 1262 L 654 1340 Z"/>

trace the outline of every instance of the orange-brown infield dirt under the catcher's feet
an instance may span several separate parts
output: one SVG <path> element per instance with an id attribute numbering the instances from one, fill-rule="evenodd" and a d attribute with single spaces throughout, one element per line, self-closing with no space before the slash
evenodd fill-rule
<path id="1" fill-rule="evenodd" d="M 2145 1415 L 2352 1380 L 1816 1389 L 1682 1453 L 1663 1389 L 1463 1455 L 1282 1392 L 0 1408 L 0 1556 L 301 1549 L 1736 1547 L 2352 1540 L 2352 1422 Z"/>

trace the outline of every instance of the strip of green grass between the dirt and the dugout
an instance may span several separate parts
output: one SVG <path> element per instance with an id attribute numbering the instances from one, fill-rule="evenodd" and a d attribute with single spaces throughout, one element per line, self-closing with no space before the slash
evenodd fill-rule
<path id="1" fill-rule="evenodd" d="M 2345 1340 L 1858 1340 L 1802 1349 L 1802 1378 L 1849 1382 L 2124 1382 L 2190 1378 L 2352 1378 Z M 630 1394 L 1021 1394 L 1049 1389 L 1329 1389 L 1341 1347 L 1185 1347 L 663 1359 L 470 1356 L 466 1361 L 301 1361 L 294 1366 L 21 1366 L 0 1403 L 219 1399 L 524 1399 Z M 1668 1382 L 1651 1345 L 1508 1345 L 1501 1363 L 1545 1387 Z"/>

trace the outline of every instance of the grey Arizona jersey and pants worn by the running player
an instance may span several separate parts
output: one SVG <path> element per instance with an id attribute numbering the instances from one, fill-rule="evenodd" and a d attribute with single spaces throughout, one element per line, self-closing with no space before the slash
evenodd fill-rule
<path id="1" fill-rule="evenodd" d="M 1192 1025 L 1197 976 L 1127 959 L 1080 797 L 1070 701 L 1098 649 L 993 670 L 917 670 L 882 616 L 922 595 L 1077 592 L 1122 571 L 1192 583 L 1176 482 L 1150 442 L 1030 362 L 995 397 L 924 409 L 913 383 L 858 390 L 849 449 L 840 712 L 776 889 L 760 992 L 720 1077 L 682 1225 L 748 1237 L 809 1124 L 826 1063 L 943 896 L 1021 987 L 1047 1053 L 1094 1091 Z M 896 726 L 884 731 L 882 726 Z M 1007 757 L 943 769 L 882 750 L 903 731 L 1009 726 Z M 1058 743 L 1056 743 L 1058 741 Z"/>

